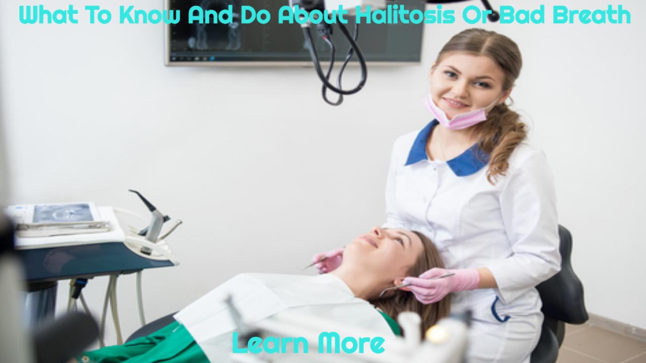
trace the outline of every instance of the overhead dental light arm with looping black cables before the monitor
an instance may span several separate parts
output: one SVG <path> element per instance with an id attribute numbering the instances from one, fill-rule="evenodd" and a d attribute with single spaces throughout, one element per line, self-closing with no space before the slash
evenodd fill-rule
<path id="1" fill-rule="evenodd" d="M 425 2 L 428 4 L 443 4 L 443 3 L 457 3 L 459 1 L 467 1 L 467 0 L 444 0 L 444 1 L 426 0 Z M 500 19 L 500 14 L 492 8 L 489 1 L 488 0 L 481 0 L 481 1 L 485 9 L 490 10 L 490 14 L 487 15 L 487 18 L 489 19 L 489 21 L 492 21 L 492 22 L 498 21 Z M 386 8 L 386 5 L 396 4 L 397 2 L 398 2 L 397 0 L 289 0 L 289 5 L 298 6 L 299 8 L 306 10 L 306 12 L 311 12 L 313 10 L 320 10 L 320 11 L 338 10 L 339 8 L 352 12 L 357 8 L 357 6 L 371 6 L 371 8 L 379 9 L 379 8 Z M 366 60 L 364 59 L 364 56 L 359 48 L 359 45 L 357 45 L 357 37 L 359 36 L 359 24 L 355 23 L 354 36 L 350 36 L 348 29 L 342 23 L 338 23 L 337 25 L 339 25 L 339 28 L 343 33 L 343 36 L 346 37 L 346 39 L 348 40 L 348 43 L 350 44 L 350 48 L 348 49 L 348 53 L 346 54 L 346 59 L 341 67 L 341 70 L 339 71 L 339 75 L 337 76 L 336 86 L 332 85 L 329 82 L 329 77 L 334 67 L 334 61 L 335 61 L 334 58 L 336 54 L 335 45 L 330 37 L 332 34 L 331 25 L 326 23 L 320 23 L 317 25 L 318 35 L 322 37 L 324 41 L 326 41 L 326 43 L 330 48 L 330 63 L 329 63 L 327 74 L 324 74 L 321 68 L 320 60 L 318 59 L 318 53 L 314 45 L 311 31 L 309 29 L 309 22 L 301 25 L 303 36 L 305 37 L 305 41 L 307 42 L 309 56 L 311 57 L 312 62 L 314 63 L 314 67 L 317 71 L 318 78 L 323 83 L 323 87 L 322 87 L 323 99 L 329 105 L 332 105 L 332 106 L 339 106 L 341 103 L 343 103 L 344 95 L 355 94 L 359 92 L 364 87 L 364 85 L 366 85 L 366 80 L 368 78 L 368 67 L 366 66 Z M 346 68 L 346 65 L 348 65 L 349 60 L 355 54 L 357 56 L 357 59 L 359 60 L 359 66 L 361 68 L 361 79 L 354 88 L 349 90 L 344 89 L 341 87 L 343 72 Z M 339 94 L 339 99 L 337 99 L 337 101 L 330 101 L 328 99 L 328 96 L 327 96 L 328 88 L 332 92 Z"/>

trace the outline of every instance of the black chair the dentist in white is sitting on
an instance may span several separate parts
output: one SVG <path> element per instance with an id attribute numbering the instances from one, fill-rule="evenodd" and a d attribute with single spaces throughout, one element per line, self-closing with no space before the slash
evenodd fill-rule
<path id="1" fill-rule="evenodd" d="M 559 225 L 561 271 L 536 286 L 543 300 L 543 328 L 541 338 L 532 351 L 530 363 L 554 363 L 565 337 L 565 323 L 583 324 L 588 312 L 583 302 L 583 284 L 572 270 L 572 234 Z"/>

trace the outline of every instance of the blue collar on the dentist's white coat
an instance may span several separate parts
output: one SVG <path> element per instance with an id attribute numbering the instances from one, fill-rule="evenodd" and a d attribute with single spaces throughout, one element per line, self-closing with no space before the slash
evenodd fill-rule
<path id="1" fill-rule="evenodd" d="M 410 152 L 408 153 L 406 166 L 422 160 L 428 160 L 428 155 L 426 155 L 426 141 L 428 140 L 428 136 L 430 136 L 433 127 L 438 123 L 437 119 L 433 119 L 433 121 L 428 123 L 428 125 L 426 125 L 426 127 L 417 134 L 417 138 L 415 138 L 413 146 L 410 148 Z M 480 156 L 480 158 L 478 158 L 478 156 Z M 451 168 L 455 175 L 469 176 L 482 169 L 488 162 L 489 154 L 481 150 L 476 143 L 469 149 L 466 149 L 462 154 L 446 161 L 446 164 Z"/>

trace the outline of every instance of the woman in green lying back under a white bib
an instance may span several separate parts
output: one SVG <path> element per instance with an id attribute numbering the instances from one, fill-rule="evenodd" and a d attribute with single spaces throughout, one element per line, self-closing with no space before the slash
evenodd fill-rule
<path id="1" fill-rule="evenodd" d="M 238 329 L 224 304 L 229 295 L 252 325 L 290 311 L 350 324 L 384 338 L 399 334 L 394 319 L 402 311 L 418 313 L 422 330 L 448 315 L 448 299 L 424 305 L 403 289 L 379 297 L 406 276 L 443 267 L 435 246 L 423 234 L 375 227 L 348 244 L 343 256 L 340 267 L 325 275 L 236 275 L 174 315 L 177 322 L 123 346 L 84 353 L 78 361 L 227 362 L 233 331 Z M 326 331 L 333 329 L 331 323 Z"/>

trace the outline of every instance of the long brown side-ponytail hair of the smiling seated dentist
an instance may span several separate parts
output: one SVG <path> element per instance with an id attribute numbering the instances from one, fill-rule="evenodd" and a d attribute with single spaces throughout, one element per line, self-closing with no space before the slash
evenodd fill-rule
<path id="1" fill-rule="evenodd" d="M 503 92 L 514 86 L 523 67 L 516 43 L 502 34 L 485 29 L 471 28 L 455 34 L 440 50 L 435 64 L 453 52 L 490 57 L 505 73 Z M 473 132 L 480 149 L 489 154 L 487 180 L 495 184 L 497 176 L 506 174 L 514 149 L 527 137 L 527 126 L 520 121 L 519 114 L 502 103 L 495 105 L 487 114 L 487 121 L 475 125 Z"/>

